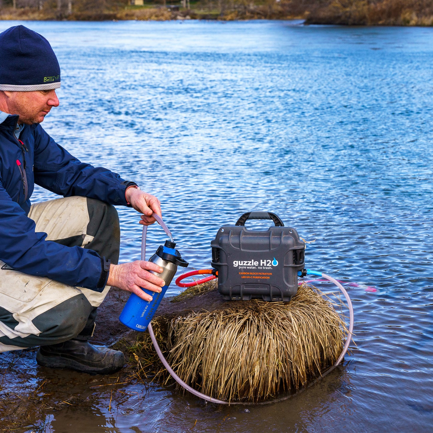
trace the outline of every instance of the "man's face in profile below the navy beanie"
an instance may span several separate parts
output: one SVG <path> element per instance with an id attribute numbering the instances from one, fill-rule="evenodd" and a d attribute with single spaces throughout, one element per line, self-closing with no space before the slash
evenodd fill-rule
<path id="1" fill-rule="evenodd" d="M 58 107 L 55 90 L 35 90 L 32 92 L 4 92 L 8 95 L 9 114 L 18 114 L 18 123 L 41 123 L 51 107 Z"/>

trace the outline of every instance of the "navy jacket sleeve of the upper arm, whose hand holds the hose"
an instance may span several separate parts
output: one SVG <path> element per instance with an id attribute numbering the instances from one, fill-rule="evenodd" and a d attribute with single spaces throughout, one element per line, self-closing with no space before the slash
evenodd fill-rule
<path id="1" fill-rule="evenodd" d="M 103 167 L 93 167 L 74 158 L 39 125 L 33 132 L 35 183 L 63 195 L 96 198 L 110 204 L 128 206 L 126 188 L 136 185 Z"/>

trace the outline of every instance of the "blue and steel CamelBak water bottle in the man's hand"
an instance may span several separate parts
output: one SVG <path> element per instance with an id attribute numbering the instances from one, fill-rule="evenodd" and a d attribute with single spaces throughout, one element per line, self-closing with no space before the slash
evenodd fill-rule
<path id="1" fill-rule="evenodd" d="M 156 253 L 149 259 L 149 262 L 156 263 L 164 269 L 160 274 L 154 271 L 149 271 L 152 272 L 152 274 L 158 275 L 158 277 L 165 281 L 165 286 L 162 288 L 162 291 L 156 293 L 147 289 L 142 289 L 152 296 L 152 301 L 150 302 L 144 301 L 135 293 L 131 293 L 125 307 L 123 307 L 122 313 L 120 313 L 119 320 L 134 331 L 145 331 L 147 329 L 147 326 L 152 320 L 158 305 L 164 297 L 174 274 L 176 274 L 176 271 L 178 270 L 178 266 L 184 268 L 188 266 L 188 262 L 185 262 L 178 250 L 174 249 L 175 246 L 176 244 L 174 242 L 167 240 L 165 241 L 164 246 L 160 245 L 156 250 Z"/>

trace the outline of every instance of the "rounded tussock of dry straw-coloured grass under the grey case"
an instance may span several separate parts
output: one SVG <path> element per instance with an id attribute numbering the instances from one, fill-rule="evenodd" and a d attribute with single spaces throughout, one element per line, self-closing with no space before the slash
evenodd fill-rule
<path id="1" fill-rule="evenodd" d="M 226 401 L 257 402 L 295 392 L 334 364 L 347 335 L 342 308 L 303 284 L 289 303 L 227 303 L 224 310 L 160 317 L 154 330 L 188 385 Z M 133 348 L 137 377 L 150 368 L 167 381 L 164 368 L 152 363 L 149 340 L 146 334 Z"/>

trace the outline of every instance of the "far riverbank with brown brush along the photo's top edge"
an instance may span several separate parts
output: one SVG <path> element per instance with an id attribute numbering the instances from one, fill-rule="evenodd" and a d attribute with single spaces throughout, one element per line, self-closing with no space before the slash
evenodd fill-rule
<path id="1" fill-rule="evenodd" d="M 21 1 L 21 3 L 20 3 Z M 134 0 L 137 1 L 137 0 Z M 13 0 L 0 9 L 2 20 L 143 20 L 303 19 L 305 24 L 349 26 L 433 26 L 433 0 L 198 0 L 168 5 L 149 2 L 142 6 L 100 2 L 54 3 Z M 91 3 L 91 4 L 90 4 Z M 129 2 L 127 2 L 129 3 Z M 4 4 L 4 3 L 3 3 Z M 37 7 L 32 7 L 37 6 Z M 184 7 L 185 6 L 185 7 Z"/>

